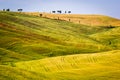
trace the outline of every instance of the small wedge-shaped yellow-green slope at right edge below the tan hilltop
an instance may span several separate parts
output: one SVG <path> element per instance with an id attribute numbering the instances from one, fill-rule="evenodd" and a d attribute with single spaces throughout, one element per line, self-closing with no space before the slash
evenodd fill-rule
<path id="1" fill-rule="evenodd" d="M 120 49 L 120 27 L 92 34 L 90 37 L 105 45 L 111 46 L 113 49 Z"/>

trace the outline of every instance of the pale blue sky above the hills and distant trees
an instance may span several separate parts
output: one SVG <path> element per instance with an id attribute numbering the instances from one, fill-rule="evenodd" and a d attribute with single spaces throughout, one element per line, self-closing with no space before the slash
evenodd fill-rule
<path id="1" fill-rule="evenodd" d="M 50 12 L 72 11 L 73 14 L 102 14 L 120 19 L 120 0 L 0 0 L 0 10 Z"/>

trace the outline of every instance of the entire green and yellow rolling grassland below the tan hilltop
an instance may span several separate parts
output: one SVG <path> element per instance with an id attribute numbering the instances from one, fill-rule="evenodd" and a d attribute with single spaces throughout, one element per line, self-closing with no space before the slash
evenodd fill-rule
<path id="1" fill-rule="evenodd" d="M 0 12 L 0 80 L 119 80 L 112 26 Z"/>

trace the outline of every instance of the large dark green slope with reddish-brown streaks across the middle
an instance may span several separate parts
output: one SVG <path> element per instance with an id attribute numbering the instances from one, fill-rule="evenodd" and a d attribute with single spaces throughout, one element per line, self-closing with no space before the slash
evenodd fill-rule
<path id="1" fill-rule="evenodd" d="M 0 48 L 24 55 L 28 57 L 26 60 L 111 50 L 111 47 L 89 37 L 90 34 L 106 30 L 20 13 L 0 12 Z"/>

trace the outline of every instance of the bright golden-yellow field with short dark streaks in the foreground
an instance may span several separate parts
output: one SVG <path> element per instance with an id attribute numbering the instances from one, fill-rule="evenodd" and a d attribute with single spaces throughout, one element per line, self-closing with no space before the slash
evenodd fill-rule
<path id="1" fill-rule="evenodd" d="M 120 50 L 18 62 L 15 66 L 46 73 L 51 80 L 119 80 Z"/>

